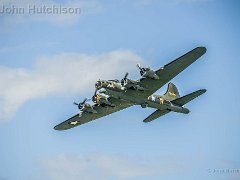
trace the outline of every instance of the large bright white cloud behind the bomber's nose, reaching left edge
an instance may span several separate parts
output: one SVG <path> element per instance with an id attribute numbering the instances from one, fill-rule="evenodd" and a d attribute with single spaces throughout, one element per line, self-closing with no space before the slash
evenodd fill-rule
<path id="1" fill-rule="evenodd" d="M 99 78 L 121 78 L 142 61 L 131 51 L 113 51 L 42 57 L 33 70 L 0 66 L 0 120 L 10 119 L 25 102 L 38 97 L 86 93 Z"/>

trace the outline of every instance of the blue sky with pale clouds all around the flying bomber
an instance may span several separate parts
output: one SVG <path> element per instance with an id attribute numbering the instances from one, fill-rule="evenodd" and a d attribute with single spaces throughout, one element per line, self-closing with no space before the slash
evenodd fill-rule
<path id="1" fill-rule="evenodd" d="M 222 172 L 240 170 L 238 1 L 9 2 L 82 11 L 0 14 L 0 180 L 240 178 Z M 145 124 L 153 110 L 136 106 L 53 130 L 98 78 L 137 79 L 137 62 L 157 69 L 197 46 L 207 53 L 172 80 L 181 95 L 208 90 L 190 114 Z"/>

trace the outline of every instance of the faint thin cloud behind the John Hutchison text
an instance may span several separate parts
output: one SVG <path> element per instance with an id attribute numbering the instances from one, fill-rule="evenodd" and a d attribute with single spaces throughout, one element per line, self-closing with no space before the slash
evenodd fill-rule
<path id="1" fill-rule="evenodd" d="M 29 7 L 71 7 L 71 8 L 80 8 L 79 13 L 66 13 L 66 14 L 59 14 L 59 13 L 29 13 Z M 22 8 L 23 11 L 15 10 L 15 13 L 2 13 L 2 25 L 1 30 L 6 31 L 9 28 L 21 24 L 21 23 L 30 23 L 30 22 L 48 22 L 60 26 L 66 25 L 73 25 L 78 23 L 84 16 L 89 14 L 98 13 L 101 11 L 102 7 L 98 1 L 95 0 L 68 0 L 65 2 L 57 2 L 54 0 L 44 0 L 44 1 L 37 1 L 37 0 L 4 0 L 1 1 L 0 8 L 3 11 L 3 7 L 8 7 L 12 9 Z M 14 10 L 12 10 L 14 12 Z M 32 11 L 30 11 L 32 12 Z"/>

